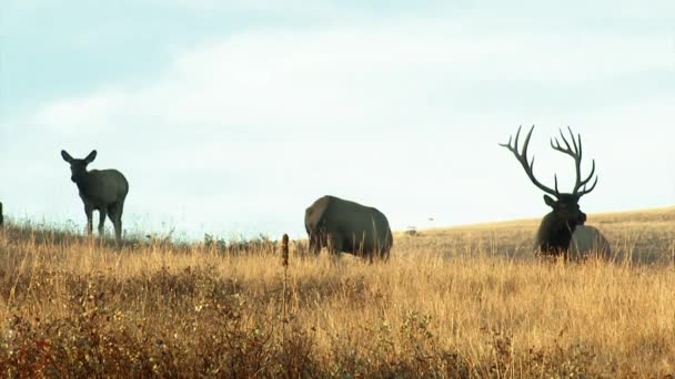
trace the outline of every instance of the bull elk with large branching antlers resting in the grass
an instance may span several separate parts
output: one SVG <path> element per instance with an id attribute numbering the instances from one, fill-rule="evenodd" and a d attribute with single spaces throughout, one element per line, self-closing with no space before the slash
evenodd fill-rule
<path id="1" fill-rule="evenodd" d="M 570 131 L 570 136 L 572 137 L 572 143 L 570 143 L 563 131 L 561 130 L 561 137 L 564 144 L 561 145 L 557 139 L 551 140 L 551 146 L 566 155 L 570 155 L 574 158 L 574 165 L 576 171 L 576 182 L 574 184 L 574 188 L 572 193 L 561 193 L 557 188 L 557 175 L 554 175 L 555 187 L 551 188 L 543 185 L 540 181 L 534 177 L 533 167 L 534 167 L 534 157 L 532 161 L 527 158 L 527 145 L 530 144 L 530 137 L 532 136 L 532 131 L 534 130 L 534 125 L 530 129 L 527 136 L 525 137 L 525 142 L 523 144 L 522 152 L 518 152 L 518 139 L 521 135 L 521 127 L 515 135 L 514 144 L 511 144 L 512 137 L 508 137 L 508 142 L 505 144 L 500 144 L 500 146 L 508 148 L 516 157 L 516 160 L 521 163 L 525 173 L 540 190 L 544 191 L 546 195 L 544 195 L 544 202 L 546 205 L 551 206 L 553 211 L 548 213 L 542 219 L 542 224 L 536 233 L 535 237 L 535 253 L 542 255 L 553 255 L 558 256 L 563 255 L 565 258 L 570 258 L 570 242 L 573 238 L 573 234 L 575 233 L 577 226 L 583 226 L 586 222 L 586 214 L 583 213 L 578 206 L 580 198 L 593 191 L 595 185 L 597 184 L 597 176 L 595 176 L 595 181 L 588 187 L 587 184 L 593 178 L 593 174 L 595 173 L 595 160 L 593 161 L 593 165 L 591 168 L 591 173 L 584 180 L 582 180 L 581 174 L 581 164 L 582 164 L 582 137 L 577 135 L 577 139 L 574 137 L 572 133 L 572 129 L 567 127 Z M 552 198 L 552 195 L 555 197 Z M 575 252 L 578 249 L 578 240 L 583 242 L 584 248 L 590 248 L 590 244 L 587 240 L 592 240 L 593 237 L 590 237 L 590 234 L 600 234 L 596 228 L 591 227 L 582 227 L 583 236 L 578 235 L 575 238 L 575 246 L 573 247 Z M 581 229 L 581 228 L 580 228 Z M 596 238 L 597 240 L 604 240 L 604 236 L 602 234 Z M 578 253 L 577 253 L 578 254 Z"/>

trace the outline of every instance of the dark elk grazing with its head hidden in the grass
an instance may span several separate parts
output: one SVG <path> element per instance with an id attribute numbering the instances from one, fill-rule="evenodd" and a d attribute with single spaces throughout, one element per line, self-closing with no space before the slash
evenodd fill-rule
<path id="1" fill-rule="evenodd" d="M 304 225 L 314 254 L 328 247 L 333 255 L 345 252 L 371 260 L 374 256 L 387 259 L 393 246 L 382 212 L 335 196 L 323 196 L 308 207 Z"/>

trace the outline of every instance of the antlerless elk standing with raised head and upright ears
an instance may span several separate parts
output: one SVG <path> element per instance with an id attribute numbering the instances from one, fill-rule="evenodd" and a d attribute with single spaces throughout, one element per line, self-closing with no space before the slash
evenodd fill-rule
<path id="1" fill-rule="evenodd" d="M 71 181 L 78 185 L 80 197 L 84 203 L 87 214 L 87 234 L 92 232 L 92 213 L 99 211 L 99 235 L 103 236 L 103 223 L 105 215 L 110 217 L 114 226 L 114 236 L 118 244 L 122 239 L 122 211 L 124 198 L 129 193 L 129 183 L 122 173 L 117 170 L 91 170 L 87 165 L 97 157 L 97 151 L 92 151 L 83 160 L 70 156 L 64 150 L 61 156 L 70 163 Z"/>

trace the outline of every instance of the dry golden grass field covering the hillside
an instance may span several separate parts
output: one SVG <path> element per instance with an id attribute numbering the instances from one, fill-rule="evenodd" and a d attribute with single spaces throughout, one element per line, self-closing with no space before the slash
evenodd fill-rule
<path id="1" fill-rule="evenodd" d="M 372 265 L 292 242 L 285 279 L 273 243 L 117 250 L 9 225 L 0 372 L 672 378 L 675 208 L 590 215 L 612 262 L 535 259 L 537 224 L 401 233 Z"/>

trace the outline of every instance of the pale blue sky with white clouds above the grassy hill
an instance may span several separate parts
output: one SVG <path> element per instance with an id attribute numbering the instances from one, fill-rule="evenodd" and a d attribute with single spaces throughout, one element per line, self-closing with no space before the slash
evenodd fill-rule
<path id="1" fill-rule="evenodd" d="M 536 125 L 586 213 L 675 203 L 675 2 L 4 0 L 0 201 L 83 228 L 60 151 L 130 183 L 127 233 L 304 236 L 331 194 L 394 229 L 540 217 L 498 143 Z M 592 215 L 588 224 L 593 224 Z M 109 226 L 110 227 L 110 226 Z"/>

